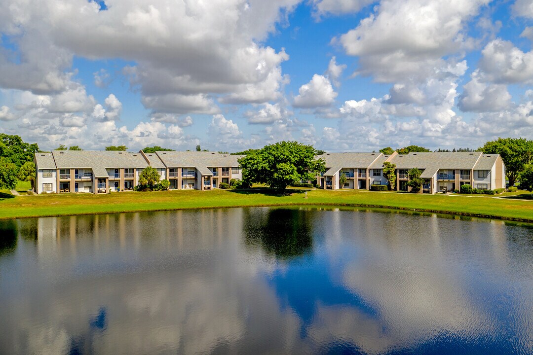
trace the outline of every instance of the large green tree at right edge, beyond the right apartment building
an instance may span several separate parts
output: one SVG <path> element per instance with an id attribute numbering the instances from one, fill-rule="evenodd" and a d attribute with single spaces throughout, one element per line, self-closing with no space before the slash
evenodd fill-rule
<path id="1" fill-rule="evenodd" d="M 498 138 L 485 143 L 479 150 L 502 157 L 510 186 L 514 185 L 524 167 L 533 163 L 533 141 L 525 138 Z"/>

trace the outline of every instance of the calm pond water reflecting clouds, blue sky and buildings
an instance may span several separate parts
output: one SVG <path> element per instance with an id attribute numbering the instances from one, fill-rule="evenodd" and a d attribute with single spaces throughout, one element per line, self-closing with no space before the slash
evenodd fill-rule
<path id="1" fill-rule="evenodd" d="M 0 354 L 532 354 L 533 228 L 245 208 L 0 221 Z"/>

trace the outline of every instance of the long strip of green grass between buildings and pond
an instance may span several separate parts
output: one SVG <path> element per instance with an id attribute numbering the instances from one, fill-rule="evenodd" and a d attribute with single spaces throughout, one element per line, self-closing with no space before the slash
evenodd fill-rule
<path id="1" fill-rule="evenodd" d="M 363 191 L 289 190 L 276 194 L 269 190 L 251 191 L 161 191 L 124 192 L 109 195 L 61 194 L 19 196 L 0 201 L 0 219 L 61 216 L 191 208 L 245 207 L 266 205 L 350 205 L 453 213 L 533 222 L 533 203 L 526 200 L 491 197 L 403 194 Z M 1 197 L 1 196 L 0 196 Z"/>

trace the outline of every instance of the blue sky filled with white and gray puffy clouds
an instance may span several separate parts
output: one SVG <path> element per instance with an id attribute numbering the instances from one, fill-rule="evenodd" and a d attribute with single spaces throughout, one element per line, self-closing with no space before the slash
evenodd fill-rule
<path id="1" fill-rule="evenodd" d="M 3 0 L 0 132 L 42 150 L 533 138 L 533 0 Z"/>

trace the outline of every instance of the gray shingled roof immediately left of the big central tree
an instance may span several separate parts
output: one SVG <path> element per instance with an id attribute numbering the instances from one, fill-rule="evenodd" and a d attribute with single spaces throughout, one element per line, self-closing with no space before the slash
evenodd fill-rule
<path id="1" fill-rule="evenodd" d="M 215 152 L 156 152 L 168 168 L 192 167 L 238 167 L 237 159 L 244 155 L 221 154 Z M 206 174 L 207 175 L 207 174 Z"/>

